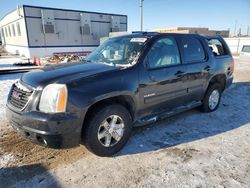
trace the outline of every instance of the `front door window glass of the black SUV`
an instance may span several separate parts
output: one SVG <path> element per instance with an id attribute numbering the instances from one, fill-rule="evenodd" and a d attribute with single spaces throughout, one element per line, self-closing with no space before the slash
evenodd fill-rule
<path id="1" fill-rule="evenodd" d="M 180 64 L 180 54 L 173 37 L 159 39 L 147 54 L 149 68 Z"/>

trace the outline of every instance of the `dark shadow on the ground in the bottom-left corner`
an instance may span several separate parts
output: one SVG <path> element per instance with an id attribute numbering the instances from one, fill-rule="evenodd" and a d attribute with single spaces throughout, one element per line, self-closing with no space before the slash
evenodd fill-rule
<path id="1" fill-rule="evenodd" d="M 41 164 L 0 168 L 1 187 L 61 187 L 55 177 L 45 173 L 47 170 Z M 44 176 L 37 176 L 42 173 Z M 30 178 L 32 182 L 27 182 Z"/>

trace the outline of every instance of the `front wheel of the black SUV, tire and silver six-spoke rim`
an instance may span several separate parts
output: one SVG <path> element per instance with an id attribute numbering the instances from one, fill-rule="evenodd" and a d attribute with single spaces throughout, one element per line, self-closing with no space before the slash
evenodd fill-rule
<path id="1" fill-rule="evenodd" d="M 127 143 L 131 132 L 132 118 L 126 108 L 118 104 L 104 106 L 96 110 L 87 121 L 83 133 L 84 144 L 98 156 L 112 156 Z"/>

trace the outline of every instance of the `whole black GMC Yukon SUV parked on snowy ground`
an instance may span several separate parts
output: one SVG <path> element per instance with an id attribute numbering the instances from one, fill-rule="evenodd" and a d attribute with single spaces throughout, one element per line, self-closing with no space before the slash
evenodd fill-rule
<path id="1" fill-rule="evenodd" d="M 133 126 L 194 107 L 216 110 L 233 67 L 219 36 L 119 36 L 82 62 L 24 74 L 10 90 L 7 116 L 36 143 L 58 148 L 83 142 L 110 156 L 125 145 Z"/>

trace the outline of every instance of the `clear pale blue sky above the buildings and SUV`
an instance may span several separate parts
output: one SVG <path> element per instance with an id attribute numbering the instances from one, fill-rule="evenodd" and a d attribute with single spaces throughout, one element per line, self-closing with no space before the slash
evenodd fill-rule
<path id="1" fill-rule="evenodd" d="M 37 5 L 66 9 L 120 13 L 128 15 L 128 30 L 140 29 L 139 0 L 0 0 L 0 17 L 17 5 Z M 241 27 L 250 26 L 250 0 L 145 0 L 144 29 L 166 27 Z"/>

